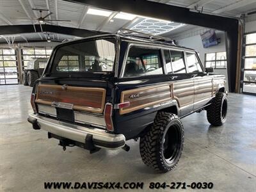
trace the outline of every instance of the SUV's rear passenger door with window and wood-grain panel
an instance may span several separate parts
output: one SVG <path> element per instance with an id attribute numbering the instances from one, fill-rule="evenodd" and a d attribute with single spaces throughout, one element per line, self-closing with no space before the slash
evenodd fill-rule
<path id="1" fill-rule="evenodd" d="M 173 84 L 173 99 L 176 99 L 180 116 L 186 115 L 193 110 L 194 81 L 186 70 L 184 52 L 178 50 L 164 50 L 166 72 Z"/>

